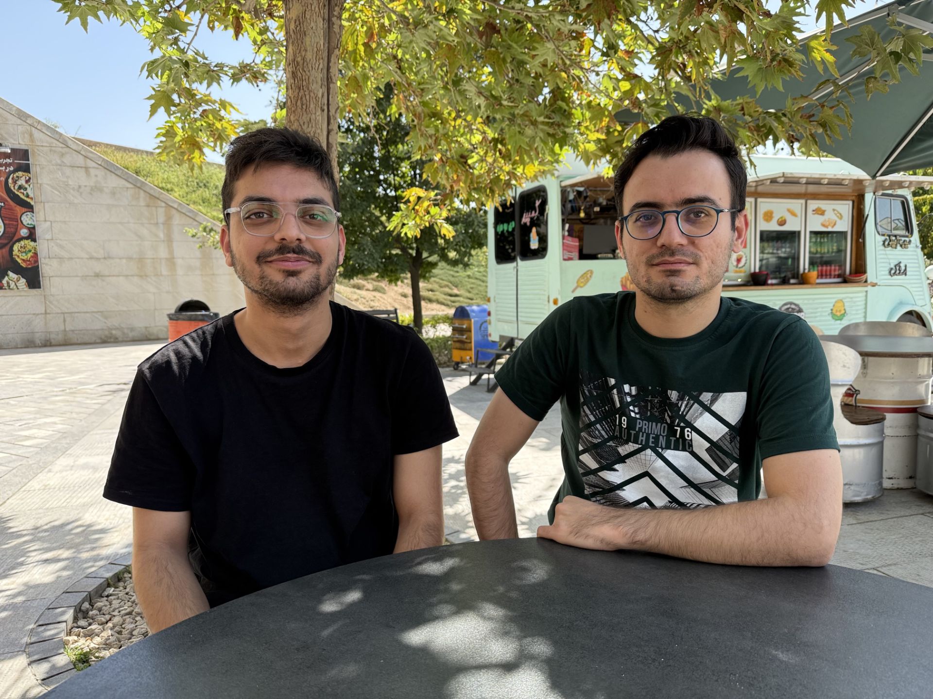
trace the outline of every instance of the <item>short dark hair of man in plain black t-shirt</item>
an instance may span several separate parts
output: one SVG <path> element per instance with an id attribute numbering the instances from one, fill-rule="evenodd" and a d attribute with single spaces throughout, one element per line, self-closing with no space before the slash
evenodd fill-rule
<path id="1" fill-rule="evenodd" d="M 284 163 L 313 171 L 330 190 L 330 196 L 334 199 L 334 209 L 341 210 L 337 179 L 334 177 L 334 169 L 324 146 L 313 136 L 294 129 L 267 128 L 249 131 L 230 142 L 224 185 L 220 188 L 224 211 L 230 209 L 233 185 L 243 176 L 244 170 L 252 166 L 255 171 L 269 163 Z M 229 222 L 229 217 L 227 218 Z"/>

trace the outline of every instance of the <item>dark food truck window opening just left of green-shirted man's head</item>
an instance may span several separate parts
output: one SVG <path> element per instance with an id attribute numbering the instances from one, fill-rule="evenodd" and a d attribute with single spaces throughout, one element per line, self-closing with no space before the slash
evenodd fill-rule
<path id="1" fill-rule="evenodd" d="M 561 190 L 564 260 L 615 259 L 616 202 L 611 189 Z"/>

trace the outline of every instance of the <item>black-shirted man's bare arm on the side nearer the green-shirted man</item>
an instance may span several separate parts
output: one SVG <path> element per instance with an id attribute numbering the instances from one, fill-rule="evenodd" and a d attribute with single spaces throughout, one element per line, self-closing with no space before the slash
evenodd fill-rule
<path id="1" fill-rule="evenodd" d="M 395 554 L 444 542 L 440 460 L 440 445 L 412 454 L 398 454 L 394 459 L 392 495 L 398 513 Z"/>

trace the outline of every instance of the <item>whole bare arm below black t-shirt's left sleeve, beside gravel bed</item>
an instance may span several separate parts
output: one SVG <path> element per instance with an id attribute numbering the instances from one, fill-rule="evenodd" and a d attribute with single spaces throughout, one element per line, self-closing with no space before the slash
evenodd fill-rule
<path id="1" fill-rule="evenodd" d="M 132 583 L 152 633 L 207 611 L 188 562 L 189 512 L 132 508 Z"/>

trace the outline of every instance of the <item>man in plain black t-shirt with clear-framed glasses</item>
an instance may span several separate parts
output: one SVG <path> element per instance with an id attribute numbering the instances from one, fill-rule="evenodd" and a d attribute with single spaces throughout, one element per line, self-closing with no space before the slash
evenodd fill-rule
<path id="1" fill-rule="evenodd" d="M 450 404 L 410 328 L 329 301 L 346 240 L 327 152 L 261 129 L 226 168 L 220 244 L 246 306 L 140 364 L 104 487 L 133 508 L 152 631 L 443 541 Z"/>

